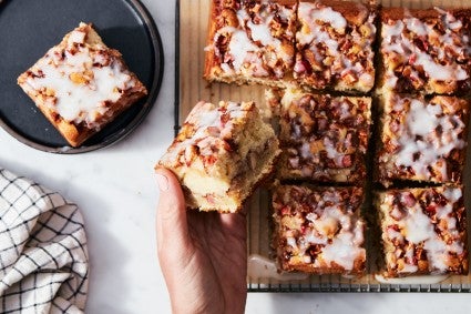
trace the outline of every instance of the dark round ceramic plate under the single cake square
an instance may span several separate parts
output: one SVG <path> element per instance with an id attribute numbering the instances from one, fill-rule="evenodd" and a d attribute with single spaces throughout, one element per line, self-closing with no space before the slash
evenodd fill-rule
<path id="1" fill-rule="evenodd" d="M 66 141 L 17 85 L 17 78 L 79 23 L 91 22 L 117 49 L 149 95 L 80 148 Z M 147 115 L 163 74 L 158 30 L 136 0 L 0 0 L 0 125 L 19 141 L 52 153 L 83 153 L 123 139 Z M 1 151 L 1 150 L 0 150 Z"/>

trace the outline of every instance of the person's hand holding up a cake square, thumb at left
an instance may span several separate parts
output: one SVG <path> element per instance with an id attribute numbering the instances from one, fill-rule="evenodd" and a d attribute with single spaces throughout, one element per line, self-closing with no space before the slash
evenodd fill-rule
<path id="1" fill-rule="evenodd" d="M 157 169 L 157 253 L 174 313 L 244 313 L 247 235 L 243 213 L 186 211 L 181 185 Z"/>

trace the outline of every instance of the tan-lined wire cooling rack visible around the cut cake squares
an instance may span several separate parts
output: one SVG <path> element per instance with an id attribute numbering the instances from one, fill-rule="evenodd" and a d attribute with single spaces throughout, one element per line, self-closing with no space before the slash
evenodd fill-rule
<path id="1" fill-rule="evenodd" d="M 471 7 L 471 0 L 383 0 L 378 1 L 383 7 L 429 8 L 438 7 Z M 253 100 L 264 103 L 265 88 L 257 85 L 236 87 L 212 83 L 203 80 L 204 48 L 208 26 L 211 0 L 177 0 L 176 1 L 176 41 L 175 41 L 175 131 L 186 118 L 194 104 L 199 100 L 217 102 L 219 100 Z M 471 139 L 471 136 L 469 136 Z M 468 149 L 470 151 L 470 149 Z M 470 164 L 468 152 L 467 164 Z M 468 169 L 468 168 L 467 168 Z M 465 186 L 471 186 L 471 166 L 465 171 Z M 470 197 L 464 192 L 465 207 L 469 212 Z M 372 209 L 367 204 L 366 210 Z M 365 210 L 364 210 L 365 211 Z M 469 216 L 469 215 L 468 215 Z M 250 199 L 248 209 L 248 255 L 263 256 L 273 261 L 270 250 L 270 209 L 267 191 L 259 190 Z M 469 233 L 470 235 L 470 233 Z M 470 293 L 471 275 L 450 276 L 440 283 L 380 283 L 376 280 L 377 253 L 375 232 L 367 229 L 367 274 L 360 278 L 346 278 L 339 275 L 311 275 L 301 280 L 285 280 L 283 277 L 247 277 L 249 292 L 417 292 L 417 293 Z M 469 243 L 471 243 L 469 241 Z"/>

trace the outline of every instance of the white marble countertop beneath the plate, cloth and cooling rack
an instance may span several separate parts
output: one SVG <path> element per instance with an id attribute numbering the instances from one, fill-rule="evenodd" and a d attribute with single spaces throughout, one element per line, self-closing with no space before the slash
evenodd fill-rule
<path id="1" fill-rule="evenodd" d="M 58 155 L 0 130 L 0 166 L 81 207 L 91 263 L 86 313 L 170 313 L 155 250 L 153 166 L 173 138 L 175 3 L 144 0 L 165 48 L 156 104 L 132 134 L 104 150 Z M 247 313 L 471 313 L 468 294 L 249 293 Z"/>

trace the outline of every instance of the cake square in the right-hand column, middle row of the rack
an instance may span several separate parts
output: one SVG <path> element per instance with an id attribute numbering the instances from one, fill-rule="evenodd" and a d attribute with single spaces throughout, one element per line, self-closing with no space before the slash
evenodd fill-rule
<path id="1" fill-rule="evenodd" d="M 455 97 L 381 97 L 376 180 L 461 183 L 469 101 Z"/>

